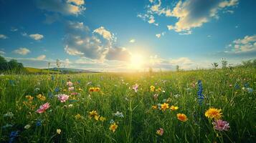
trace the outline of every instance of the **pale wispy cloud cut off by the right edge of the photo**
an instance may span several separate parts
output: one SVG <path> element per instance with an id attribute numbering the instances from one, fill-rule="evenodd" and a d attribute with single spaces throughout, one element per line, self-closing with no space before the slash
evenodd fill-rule
<path id="1" fill-rule="evenodd" d="M 226 53 L 247 53 L 256 51 L 256 35 L 245 36 L 243 39 L 235 39 L 227 46 Z"/>

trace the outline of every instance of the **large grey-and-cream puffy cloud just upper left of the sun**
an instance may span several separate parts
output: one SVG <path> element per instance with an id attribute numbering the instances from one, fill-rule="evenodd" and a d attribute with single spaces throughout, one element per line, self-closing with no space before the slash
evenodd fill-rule
<path id="1" fill-rule="evenodd" d="M 120 61 L 128 60 L 131 56 L 127 49 L 115 45 L 115 35 L 103 26 L 90 32 L 82 22 L 69 21 L 66 32 L 64 41 L 67 54 Z"/>

